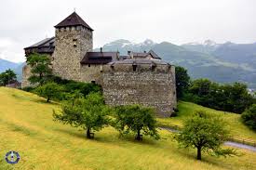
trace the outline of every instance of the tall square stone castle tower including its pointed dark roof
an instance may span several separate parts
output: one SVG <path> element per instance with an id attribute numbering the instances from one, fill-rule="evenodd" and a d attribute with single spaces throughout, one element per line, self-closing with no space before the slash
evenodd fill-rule
<path id="1" fill-rule="evenodd" d="M 55 28 L 53 72 L 61 78 L 80 81 L 80 62 L 93 49 L 93 30 L 75 12 Z"/>

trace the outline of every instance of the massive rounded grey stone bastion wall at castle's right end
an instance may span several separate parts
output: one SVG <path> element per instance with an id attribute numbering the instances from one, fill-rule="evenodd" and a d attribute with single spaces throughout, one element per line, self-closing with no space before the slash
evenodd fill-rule
<path id="1" fill-rule="evenodd" d="M 141 104 L 154 107 L 159 116 L 168 117 L 176 108 L 175 68 L 169 65 L 105 65 L 102 72 L 106 104 Z"/>

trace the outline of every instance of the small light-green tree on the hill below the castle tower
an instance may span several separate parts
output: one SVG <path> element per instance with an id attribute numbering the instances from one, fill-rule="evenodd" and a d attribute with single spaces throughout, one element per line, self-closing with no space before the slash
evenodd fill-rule
<path id="1" fill-rule="evenodd" d="M 60 98 L 63 87 L 56 83 L 47 83 L 45 85 L 40 85 L 35 88 L 34 92 L 44 98 L 47 98 L 49 102 L 52 98 Z"/>

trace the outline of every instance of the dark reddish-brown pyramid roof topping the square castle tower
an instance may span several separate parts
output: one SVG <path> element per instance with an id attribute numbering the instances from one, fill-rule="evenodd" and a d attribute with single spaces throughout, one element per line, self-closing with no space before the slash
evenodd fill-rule
<path id="1" fill-rule="evenodd" d="M 70 16 L 68 16 L 66 19 L 62 20 L 59 24 L 54 26 L 55 28 L 61 28 L 61 27 L 68 27 L 68 26 L 84 26 L 88 28 L 90 31 L 93 31 L 92 28 L 90 28 L 80 16 L 78 16 L 75 12 L 73 12 Z"/>

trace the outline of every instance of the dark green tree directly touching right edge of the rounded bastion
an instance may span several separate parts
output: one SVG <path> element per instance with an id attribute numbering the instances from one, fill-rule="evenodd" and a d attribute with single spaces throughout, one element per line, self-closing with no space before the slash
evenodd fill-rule
<path id="1" fill-rule="evenodd" d="M 176 92 L 177 98 L 182 98 L 184 92 L 190 85 L 190 76 L 187 70 L 181 66 L 175 67 L 175 79 L 176 79 Z"/>

